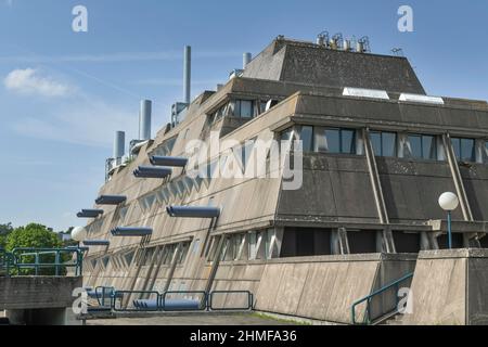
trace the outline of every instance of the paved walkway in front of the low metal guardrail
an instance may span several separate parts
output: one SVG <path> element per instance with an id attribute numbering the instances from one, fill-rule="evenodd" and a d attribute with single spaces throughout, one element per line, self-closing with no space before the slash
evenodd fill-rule
<path id="1" fill-rule="evenodd" d="M 275 320 L 254 313 L 172 314 L 144 318 L 89 320 L 87 325 L 293 325 L 294 322 Z"/>

